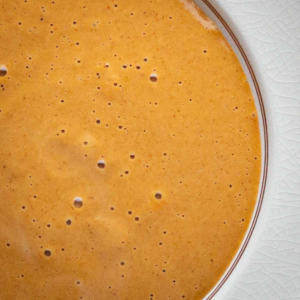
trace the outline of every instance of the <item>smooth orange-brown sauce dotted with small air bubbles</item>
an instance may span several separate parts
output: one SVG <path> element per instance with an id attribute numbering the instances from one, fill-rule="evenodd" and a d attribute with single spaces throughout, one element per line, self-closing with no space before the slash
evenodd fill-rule
<path id="1" fill-rule="evenodd" d="M 1 297 L 202 298 L 260 176 L 253 96 L 220 31 L 177 0 L 0 14 Z"/>

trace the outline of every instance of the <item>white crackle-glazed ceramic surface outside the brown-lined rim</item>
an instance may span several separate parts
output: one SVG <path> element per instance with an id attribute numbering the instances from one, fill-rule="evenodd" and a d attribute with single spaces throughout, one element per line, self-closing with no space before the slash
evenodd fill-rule
<path id="1" fill-rule="evenodd" d="M 300 1 L 211 0 L 253 67 L 269 163 L 250 242 L 215 300 L 300 300 Z"/>

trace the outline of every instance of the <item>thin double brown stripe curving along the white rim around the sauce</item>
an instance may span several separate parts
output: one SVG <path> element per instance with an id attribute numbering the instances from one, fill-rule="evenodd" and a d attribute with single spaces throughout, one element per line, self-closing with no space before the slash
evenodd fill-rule
<path id="1" fill-rule="evenodd" d="M 223 284 L 225 283 L 225 281 L 227 280 L 227 278 L 230 276 L 230 274 L 232 273 L 233 269 L 235 268 L 235 266 L 237 265 L 238 261 L 240 260 L 242 254 L 245 251 L 245 248 L 247 247 L 247 244 L 250 240 L 250 237 L 252 235 L 253 229 L 256 225 L 256 221 L 260 212 L 260 208 L 262 205 L 262 199 L 263 196 L 265 194 L 265 183 L 266 183 L 266 179 L 267 179 L 267 171 L 268 171 L 268 130 L 267 130 L 267 121 L 266 121 L 266 117 L 265 117 L 265 107 L 263 105 L 263 101 L 262 101 L 262 95 L 255 77 L 255 74 L 253 72 L 253 69 L 250 65 L 250 62 L 247 58 L 247 55 L 245 54 L 243 48 L 241 47 L 241 44 L 239 43 L 238 39 L 236 38 L 236 36 L 234 35 L 234 33 L 231 31 L 230 27 L 228 26 L 228 24 L 224 21 L 224 19 L 220 16 L 220 14 L 217 12 L 217 10 L 208 2 L 208 0 L 202 0 L 204 4 L 206 4 L 208 6 L 208 8 L 215 14 L 215 16 L 217 16 L 217 18 L 220 20 L 220 22 L 223 24 L 223 26 L 225 27 L 225 29 L 227 30 L 227 32 L 229 33 L 229 35 L 231 36 L 231 38 L 233 39 L 233 41 L 235 42 L 235 45 L 238 47 L 238 50 L 241 52 L 241 55 L 244 58 L 244 61 L 247 65 L 247 68 L 250 72 L 251 78 L 253 80 L 254 83 L 254 87 L 256 90 L 256 94 L 257 94 L 257 98 L 259 100 L 259 106 L 260 106 L 260 111 L 262 114 L 262 123 L 263 123 L 263 131 L 264 131 L 264 142 L 265 142 L 265 153 L 264 153 L 264 169 L 263 169 L 263 175 L 262 175 L 262 187 L 260 190 L 260 194 L 259 194 L 259 200 L 258 200 L 258 205 L 254 214 L 254 218 L 253 218 L 253 222 L 251 224 L 250 230 L 247 234 L 247 237 L 243 243 L 243 245 L 241 246 L 241 249 L 238 252 L 237 257 L 235 258 L 234 262 L 232 263 L 231 267 L 229 268 L 229 270 L 227 271 L 227 273 L 225 274 L 225 276 L 223 277 L 222 281 L 210 292 L 210 294 L 208 294 L 207 298 L 205 298 L 205 300 L 211 300 L 214 295 L 216 295 L 216 293 L 219 291 L 219 289 L 223 286 Z"/>

